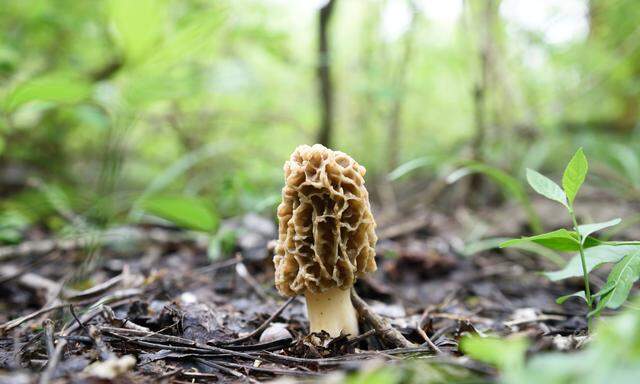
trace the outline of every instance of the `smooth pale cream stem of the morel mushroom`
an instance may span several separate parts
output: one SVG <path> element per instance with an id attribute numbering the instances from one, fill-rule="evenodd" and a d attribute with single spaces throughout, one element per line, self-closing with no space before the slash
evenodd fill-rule
<path id="1" fill-rule="evenodd" d="M 358 336 L 358 318 L 348 289 L 333 287 L 321 293 L 307 292 L 305 297 L 311 332 Z"/>

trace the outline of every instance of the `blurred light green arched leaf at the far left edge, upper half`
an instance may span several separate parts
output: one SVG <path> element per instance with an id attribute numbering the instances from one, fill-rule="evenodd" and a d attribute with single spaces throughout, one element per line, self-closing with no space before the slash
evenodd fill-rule
<path id="1" fill-rule="evenodd" d="M 91 92 L 92 86 L 86 79 L 70 74 L 51 74 L 18 85 L 5 98 L 4 109 L 10 113 L 31 101 L 75 104 Z"/>

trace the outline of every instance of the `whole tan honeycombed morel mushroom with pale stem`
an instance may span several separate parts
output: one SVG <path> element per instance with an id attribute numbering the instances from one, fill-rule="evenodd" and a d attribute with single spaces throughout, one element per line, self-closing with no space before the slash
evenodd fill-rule
<path id="1" fill-rule="evenodd" d="M 365 169 L 347 154 L 316 144 L 296 148 L 284 174 L 276 287 L 285 296 L 305 295 L 311 332 L 356 336 L 350 288 L 376 270 Z"/>

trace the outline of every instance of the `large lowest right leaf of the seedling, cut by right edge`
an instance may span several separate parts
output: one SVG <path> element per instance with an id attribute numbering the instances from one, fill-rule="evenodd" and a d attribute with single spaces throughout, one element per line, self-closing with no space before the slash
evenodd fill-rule
<path id="1" fill-rule="evenodd" d="M 602 291 L 607 292 L 600 294 L 601 298 L 589 316 L 599 314 L 604 307 L 616 309 L 619 308 L 629 297 L 631 287 L 640 277 L 640 250 L 625 256 L 619 263 L 617 263 L 609 277 L 606 284 L 602 287 Z"/>

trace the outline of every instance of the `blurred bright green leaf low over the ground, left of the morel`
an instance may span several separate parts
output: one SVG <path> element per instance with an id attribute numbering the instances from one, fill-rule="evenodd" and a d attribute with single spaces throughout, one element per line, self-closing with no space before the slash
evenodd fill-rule
<path id="1" fill-rule="evenodd" d="M 217 217 L 197 198 L 151 197 L 143 201 L 142 209 L 186 229 L 211 232 L 217 225 Z"/>

